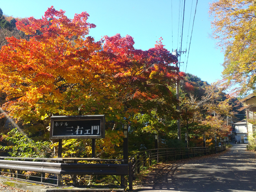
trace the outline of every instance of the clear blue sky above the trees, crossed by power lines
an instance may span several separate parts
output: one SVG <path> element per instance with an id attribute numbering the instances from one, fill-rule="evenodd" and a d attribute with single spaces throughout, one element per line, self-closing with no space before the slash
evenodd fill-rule
<path id="1" fill-rule="evenodd" d="M 95 40 L 104 35 L 120 33 L 122 36 L 134 37 L 135 48 L 148 50 L 162 37 L 165 48 L 172 51 L 180 48 L 181 37 L 178 34 L 182 30 L 178 23 L 182 22 L 183 15 L 179 17 L 179 10 L 183 9 L 183 2 L 184 0 L 12 0 L 2 1 L 0 8 L 9 16 L 35 18 L 41 18 L 50 6 L 66 11 L 69 18 L 73 18 L 75 13 L 86 11 L 90 15 L 88 22 L 96 24 L 96 28 L 89 33 Z M 224 56 L 221 49 L 216 48 L 216 41 L 210 37 L 209 2 L 211 1 L 198 0 L 189 57 L 187 59 L 188 52 L 181 56 L 180 61 L 184 63 L 180 63 L 180 70 L 213 83 L 221 79 Z M 187 48 L 188 51 L 189 48 L 195 5 L 196 0 L 187 0 L 185 4 L 182 50 Z"/>

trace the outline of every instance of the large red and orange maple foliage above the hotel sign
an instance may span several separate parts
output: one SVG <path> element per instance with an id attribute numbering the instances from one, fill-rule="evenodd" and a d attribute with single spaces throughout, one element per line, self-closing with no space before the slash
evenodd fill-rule
<path id="1" fill-rule="evenodd" d="M 7 96 L 2 109 L 11 118 L 39 122 L 48 133 L 52 115 L 105 114 L 113 131 L 118 122 L 136 122 L 136 113 L 156 110 L 163 116 L 166 110 L 175 116 L 178 101 L 171 88 L 184 74 L 177 73 L 176 57 L 161 39 L 146 51 L 135 49 L 129 35 L 96 42 L 88 36 L 95 25 L 86 12 L 73 19 L 64 13 L 50 7 L 41 19 L 18 21 L 30 39 L 8 37 L 2 47 L 0 92 Z"/>

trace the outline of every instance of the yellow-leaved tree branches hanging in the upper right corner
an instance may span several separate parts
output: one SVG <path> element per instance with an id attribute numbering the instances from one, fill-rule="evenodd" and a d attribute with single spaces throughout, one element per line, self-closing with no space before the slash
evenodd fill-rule
<path id="1" fill-rule="evenodd" d="M 213 37 L 226 54 L 223 77 L 238 93 L 255 90 L 256 4 L 254 0 L 218 0 L 210 4 Z"/>

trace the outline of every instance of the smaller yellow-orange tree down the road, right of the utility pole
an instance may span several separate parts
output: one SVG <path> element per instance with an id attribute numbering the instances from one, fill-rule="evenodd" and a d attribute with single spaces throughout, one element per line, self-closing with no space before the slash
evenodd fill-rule
<path id="1" fill-rule="evenodd" d="M 204 85 L 204 90 L 200 94 L 187 91 L 181 101 L 181 116 L 183 131 L 188 133 L 190 144 L 202 145 L 203 135 L 211 144 L 214 136 L 227 137 L 231 126 L 227 125 L 226 118 L 234 117 L 233 106 L 230 104 L 232 98 L 224 93 L 225 90 L 221 88 L 220 83 Z"/>

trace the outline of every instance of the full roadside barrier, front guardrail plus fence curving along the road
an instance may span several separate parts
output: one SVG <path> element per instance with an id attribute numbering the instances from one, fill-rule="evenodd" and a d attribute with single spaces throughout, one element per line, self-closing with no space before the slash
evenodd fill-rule
<path id="1" fill-rule="evenodd" d="M 187 159 L 207 155 L 210 153 L 219 153 L 226 150 L 226 146 L 217 146 L 215 148 L 161 148 L 145 150 L 135 153 L 128 159 L 98 159 L 98 158 L 26 158 L 26 157 L 0 157 L 0 171 L 5 174 L 11 174 L 13 177 L 21 178 L 22 171 L 37 172 L 41 174 L 39 182 L 47 185 L 63 185 L 62 175 L 70 175 L 72 183 L 69 185 L 79 185 L 77 175 L 111 175 L 120 186 L 125 184 L 125 175 L 128 175 L 129 189 L 132 190 L 132 184 L 135 180 L 135 174 L 139 174 L 141 168 L 151 166 L 152 161 L 172 161 L 178 159 Z M 4 171 L 6 170 L 6 172 Z M 9 170 L 7 172 L 7 170 Z M 54 178 L 46 177 L 46 174 L 55 175 Z M 115 175 L 121 175 L 120 182 Z M 23 174 L 24 177 L 24 174 Z M 33 177 L 33 176 L 29 176 Z M 51 183 L 49 179 L 52 179 Z M 81 185 L 81 184 L 80 184 Z"/>

